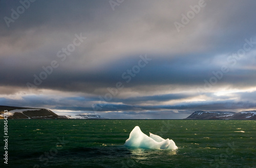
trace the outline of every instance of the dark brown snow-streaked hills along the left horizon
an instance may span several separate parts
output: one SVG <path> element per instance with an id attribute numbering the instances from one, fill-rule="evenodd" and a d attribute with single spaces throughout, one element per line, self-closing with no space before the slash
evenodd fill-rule
<path id="1" fill-rule="evenodd" d="M 8 119 L 106 119 L 100 115 L 78 114 L 73 118 L 66 115 L 57 115 L 49 109 L 0 106 L 0 119 L 4 118 L 4 111 L 8 110 Z"/>

